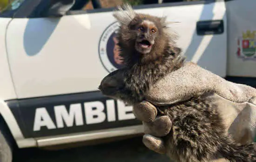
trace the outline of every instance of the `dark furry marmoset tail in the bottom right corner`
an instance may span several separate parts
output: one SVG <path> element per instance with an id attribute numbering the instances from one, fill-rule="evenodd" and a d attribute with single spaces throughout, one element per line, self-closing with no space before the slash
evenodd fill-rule
<path id="1" fill-rule="evenodd" d="M 226 141 L 227 142 L 227 141 Z M 256 162 L 256 143 L 246 145 L 223 141 L 221 155 L 230 162 Z"/>

